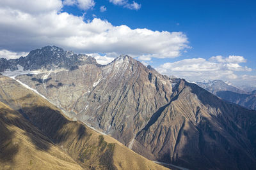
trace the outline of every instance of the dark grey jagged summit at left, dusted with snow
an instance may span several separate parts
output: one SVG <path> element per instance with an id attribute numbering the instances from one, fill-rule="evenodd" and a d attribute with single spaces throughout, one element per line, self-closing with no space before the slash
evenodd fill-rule
<path id="1" fill-rule="evenodd" d="M 64 51 L 58 46 L 45 46 L 40 49 L 32 50 L 26 57 L 19 59 L 0 59 L 0 72 L 22 69 L 24 71 L 35 71 L 38 69 L 75 69 L 84 64 L 97 64 L 93 57 L 84 54 L 76 54 Z M 20 66 L 20 67 L 19 67 Z"/>

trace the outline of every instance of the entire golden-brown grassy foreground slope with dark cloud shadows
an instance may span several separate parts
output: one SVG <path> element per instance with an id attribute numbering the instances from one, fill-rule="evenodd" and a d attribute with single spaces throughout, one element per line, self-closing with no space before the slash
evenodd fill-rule
<path id="1" fill-rule="evenodd" d="M 0 75 L 1 169 L 167 169 Z"/>

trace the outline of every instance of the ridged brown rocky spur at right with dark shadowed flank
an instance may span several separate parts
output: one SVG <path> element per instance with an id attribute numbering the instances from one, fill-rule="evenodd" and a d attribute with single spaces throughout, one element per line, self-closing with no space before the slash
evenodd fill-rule
<path id="1" fill-rule="evenodd" d="M 191 169 L 255 167 L 255 111 L 184 80 L 178 84 L 177 95 L 138 132 L 134 150 L 147 148 L 159 160 Z"/>

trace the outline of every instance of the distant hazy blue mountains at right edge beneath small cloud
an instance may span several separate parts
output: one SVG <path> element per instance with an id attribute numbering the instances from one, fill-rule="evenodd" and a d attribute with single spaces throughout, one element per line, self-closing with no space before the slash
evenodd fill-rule
<path id="1" fill-rule="evenodd" d="M 228 85 L 221 80 L 196 82 L 200 87 L 208 90 L 225 101 L 239 104 L 246 108 L 256 110 L 256 90 L 246 92 L 242 89 Z"/>

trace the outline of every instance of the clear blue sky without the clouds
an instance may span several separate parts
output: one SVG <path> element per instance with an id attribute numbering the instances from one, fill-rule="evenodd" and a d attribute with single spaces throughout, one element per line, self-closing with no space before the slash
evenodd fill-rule
<path id="1" fill-rule="evenodd" d="M 97 1 L 93 10 L 86 11 L 106 19 L 113 25 L 128 25 L 132 29 L 182 31 L 192 47 L 188 53 L 173 60 L 215 55 L 242 55 L 252 60 L 256 53 L 256 1 L 136 1 L 140 10 L 115 6 L 106 0 Z M 99 11 L 100 6 L 107 11 Z M 76 6 L 63 11 L 83 15 Z M 256 60 L 256 59 L 255 59 Z M 161 61 L 160 61 L 161 62 Z M 256 62 L 255 62 L 256 64 Z M 253 62 L 248 66 L 255 67 Z"/>

